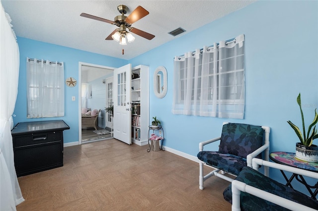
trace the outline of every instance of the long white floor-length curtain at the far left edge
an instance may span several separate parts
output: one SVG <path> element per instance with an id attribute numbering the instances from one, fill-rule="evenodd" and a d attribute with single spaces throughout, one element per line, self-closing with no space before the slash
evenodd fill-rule
<path id="1" fill-rule="evenodd" d="M 0 211 L 15 211 L 15 206 L 24 201 L 15 173 L 11 136 L 18 87 L 19 49 L 11 29 L 11 19 L 0 5 Z"/>

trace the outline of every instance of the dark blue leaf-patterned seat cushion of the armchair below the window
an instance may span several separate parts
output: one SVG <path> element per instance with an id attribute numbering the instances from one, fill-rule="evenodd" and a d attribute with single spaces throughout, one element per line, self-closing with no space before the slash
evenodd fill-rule
<path id="1" fill-rule="evenodd" d="M 246 158 L 220 152 L 202 151 L 198 153 L 197 157 L 213 167 L 234 175 L 238 175 L 241 169 L 247 165 Z"/>

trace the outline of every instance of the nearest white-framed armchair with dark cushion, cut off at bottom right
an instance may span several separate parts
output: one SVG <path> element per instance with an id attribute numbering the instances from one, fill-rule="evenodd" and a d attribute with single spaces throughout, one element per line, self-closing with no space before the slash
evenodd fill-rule
<path id="1" fill-rule="evenodd" d="M 232 211 L 314 211 L 318 201 L 283 185 L 257 171 L 258 165 L 284 169 L 291 173 L 318 179 L 318 173 L 253 158 L 253 168 L 244 167 L 223 192 Z"/>

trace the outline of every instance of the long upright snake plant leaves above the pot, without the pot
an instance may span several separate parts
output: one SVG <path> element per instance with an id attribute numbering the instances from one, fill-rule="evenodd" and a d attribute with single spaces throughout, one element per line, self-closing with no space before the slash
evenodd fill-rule
<path id="1" fill-rule="evenodd" d="M 317 134 L 317 129 L 316 129 L 316 124 L 318 122 L 318 114 L 317 114 L 317 108 L 315 109 L 315 117 L 313 122 L 309 125 L 308 127 L 308 132 L 307 132 L 307 136 L 306 136 L 306 130 L 305 130 L 305 122 L 304 122 L 304 114 L 303 114 L 303 109 L 302 109 L 302 102 L 301 102 L 301 98 L 300 98 L 300 93 L 297 97 L 297 103 L 300 107 L 300 113 L 302 116 L 302 122 L 303 122 L 303 134 L 300 131 L 300 129 L 293 124 L 291 121 L 287 121 L 288 124 L 294 129 L 294 131 L 296 132 L 299 140 L 301 141 L 302 145 L 310 147 L 313 144 L 313 140 L 318 138 L 318 134 Z M 313 128 L 314 127 L 314 128 Z M 313 130 L 312 130 L 313 128 Z"/>

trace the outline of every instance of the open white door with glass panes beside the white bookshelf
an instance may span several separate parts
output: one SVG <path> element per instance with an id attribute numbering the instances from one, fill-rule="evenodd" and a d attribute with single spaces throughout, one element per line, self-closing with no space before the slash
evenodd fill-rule
<path id="1" fill-rule="evenodd" d="M 114 138 L 131 144 L 131 64 L 114 70 Z"/>

